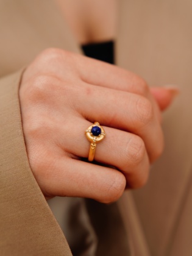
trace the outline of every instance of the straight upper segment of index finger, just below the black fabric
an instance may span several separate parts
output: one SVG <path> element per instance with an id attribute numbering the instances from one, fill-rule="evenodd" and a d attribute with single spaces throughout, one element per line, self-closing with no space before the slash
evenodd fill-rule
<path id="1" fill-rule="evenodd" d="M 74 55 L 74 59 L 80 78 L 88 84 L 138 94 L 146 94 L 149 91 L 146 82 L 130 71 L 77 54 Z"/>

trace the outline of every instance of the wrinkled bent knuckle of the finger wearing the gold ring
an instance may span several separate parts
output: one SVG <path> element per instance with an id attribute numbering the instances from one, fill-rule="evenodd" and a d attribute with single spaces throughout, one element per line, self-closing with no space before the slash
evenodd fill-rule
<path id="1" fill-rule="evenodd" d="M 138 165 L 143 160 L 145 153 L 144 141 L 135 135 L 126 146 L 127 165 L 130 163 Z"/>

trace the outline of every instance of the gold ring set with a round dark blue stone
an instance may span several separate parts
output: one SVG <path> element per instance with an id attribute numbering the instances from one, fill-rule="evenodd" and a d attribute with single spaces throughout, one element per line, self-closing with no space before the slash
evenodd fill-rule
<path id="1" fill-rule="evenodd" d="M 88 160 L 91 162 L 94 159 L 94 153 L 96 150 L 97 143 L 102 141 L 105 138 L 105 131 L 102 126 L 99 125 L 98 122 L 94 122 L 92 126 L 88 127 L 85 130 L 85 135 L 87 140 L 90 141 L 90 152 L 88 154 Z"/>

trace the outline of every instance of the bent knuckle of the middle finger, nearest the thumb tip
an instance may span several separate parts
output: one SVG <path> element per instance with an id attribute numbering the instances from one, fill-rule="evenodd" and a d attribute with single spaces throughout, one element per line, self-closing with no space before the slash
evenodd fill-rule
<path id="1" fill-rule="evenodd" d="M 154 109 L 149 99 L 144 97 L 138 98 L 136 109 L 138 119 L 144 126 L 149 124 L 154 118 Z"/>

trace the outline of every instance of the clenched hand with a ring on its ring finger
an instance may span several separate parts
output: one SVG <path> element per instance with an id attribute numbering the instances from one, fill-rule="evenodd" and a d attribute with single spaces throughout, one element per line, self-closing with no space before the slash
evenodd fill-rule
<path id="1" fill-rule="evenodd" d="M 46 198 L 116 201 L 125 187 L 146 183 L 163 151 L 161 113 L 148 85 L 116 66 L 47 49 L 24 72 L 20 102 L 30 167 Z M 82 161 L 94 121 L 106 132 L 94 159 L 118 170 Z"/>

